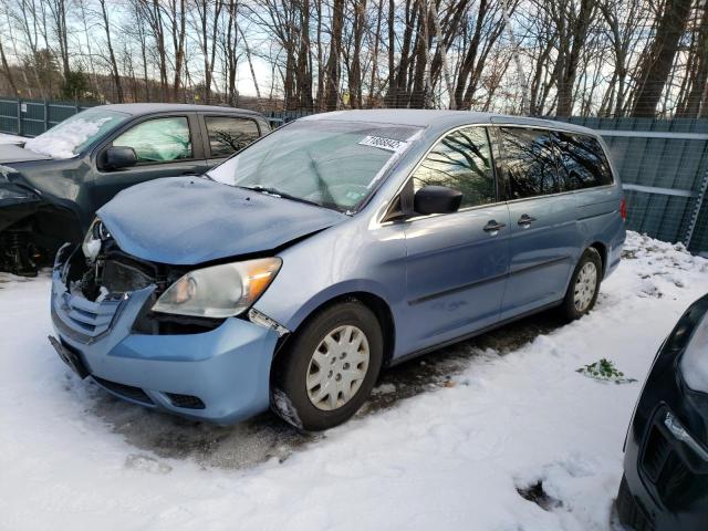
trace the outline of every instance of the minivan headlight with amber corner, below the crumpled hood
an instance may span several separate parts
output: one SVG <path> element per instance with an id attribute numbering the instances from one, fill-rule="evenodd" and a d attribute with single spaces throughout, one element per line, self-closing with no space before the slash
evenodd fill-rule
<path id="1" fill-rule="evenodd" d="M 259 258 L 197 269 L 160 295 L 153 311 L 204 317 L 230 317 L 247 310 L 280 270 L 280 258 Z"/>

